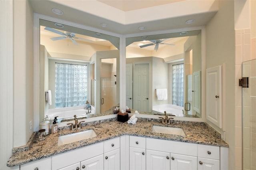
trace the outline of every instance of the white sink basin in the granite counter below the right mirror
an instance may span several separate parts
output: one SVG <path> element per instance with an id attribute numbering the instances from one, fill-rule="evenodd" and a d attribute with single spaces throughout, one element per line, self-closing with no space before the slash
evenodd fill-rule
<path id="1" fill-rule="evenodd" d="M 153 126 L 153 132 L 186 136 L 182 128 Z"/>

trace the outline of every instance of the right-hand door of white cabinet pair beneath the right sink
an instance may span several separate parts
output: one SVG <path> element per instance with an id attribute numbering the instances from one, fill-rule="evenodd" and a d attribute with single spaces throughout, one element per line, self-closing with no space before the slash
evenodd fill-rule
<path id="1" fill-rule="evenodd" d="M 171 170 L 196 170 L 197 157 L 171 153 Z"/>

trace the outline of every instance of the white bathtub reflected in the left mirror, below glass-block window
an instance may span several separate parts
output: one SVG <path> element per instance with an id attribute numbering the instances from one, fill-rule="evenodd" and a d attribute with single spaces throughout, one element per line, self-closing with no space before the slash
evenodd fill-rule
<path id="1" fill-rule="evenodd" d="M 53 120 L 54 117 L 58 116 L 58 120 L 65 120 L 68 118 L 74 118 L 76 115 L 77 118 L 86 117 L 86 115 L 91 115 L 95 113 L 95 109 L 91 106 L 91 110 L 84 109 L 84 106 L 77 107 L 66 107 L 66 108 L 56 108 L 56 109 L 48 109 L 48 111 L 44 114 L 44 116 L 48 115 L 48 117 Z M 87 113 L 87 114 L 86 114 Z M 60 123 L 60 121 L 58 121 Z"/>

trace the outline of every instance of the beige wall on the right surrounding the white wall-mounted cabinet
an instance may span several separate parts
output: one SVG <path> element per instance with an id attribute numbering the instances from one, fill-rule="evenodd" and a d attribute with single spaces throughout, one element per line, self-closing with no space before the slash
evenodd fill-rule
<path id="1" fill-rule="evenodd" d="M 229 144 L 229 169 L 235 169 L 235 36 L 234 1 L 219 1 L 219 11 L 206 25 L 206 69 L 222 65 L 222 119 Z M 207 121 L 208 122 L 208 121 Z M 218 131 L 220 129 L 208 122 Z"/>

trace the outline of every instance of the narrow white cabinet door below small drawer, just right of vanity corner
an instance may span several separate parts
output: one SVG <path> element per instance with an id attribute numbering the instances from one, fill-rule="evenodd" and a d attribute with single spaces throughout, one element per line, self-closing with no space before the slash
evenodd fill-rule
<path id="1" fill-rule="evenodd" d="M 146 149 L 130 147 L 130 170 L 146 170 Z"/>

